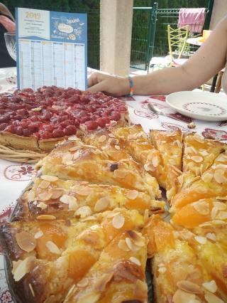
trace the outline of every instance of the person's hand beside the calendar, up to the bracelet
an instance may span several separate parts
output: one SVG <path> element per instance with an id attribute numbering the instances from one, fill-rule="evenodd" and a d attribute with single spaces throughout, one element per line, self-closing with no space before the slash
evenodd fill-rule
<path id="1" fill-rule="evenodd" d="M 89 92 L 106 92 L 116 97 L 130 92 L 128 78 L 104 73 L 93 73 L 88 78 L 88 87 Z"/>

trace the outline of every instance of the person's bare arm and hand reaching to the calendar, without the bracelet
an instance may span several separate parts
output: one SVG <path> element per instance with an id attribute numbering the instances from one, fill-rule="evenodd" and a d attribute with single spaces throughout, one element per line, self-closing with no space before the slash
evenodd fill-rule
<path id="1" fill-rule="evenodd" d="M 133 77 L 135 95 L 168 94 L 179 90 L 193 90 L 216 75 L 226 63 L 227 16 L 218 23 L 199 50 L 184 65 L 165 68 L 148 75 Z M 126 95 L 130 91 L 128 78 L 94 73 L 88 80 L 89 91 L 111 95 Z"/>

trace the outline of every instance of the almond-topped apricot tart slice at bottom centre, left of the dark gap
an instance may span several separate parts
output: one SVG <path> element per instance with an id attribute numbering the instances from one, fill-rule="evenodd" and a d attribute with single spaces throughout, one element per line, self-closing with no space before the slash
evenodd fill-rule
<path id="1" fill-rule="evenodd" d="M 64 302 L 148 302 L 146 260 L 146 241 L 141 233 L 127 230 L 118 234 Z"/>

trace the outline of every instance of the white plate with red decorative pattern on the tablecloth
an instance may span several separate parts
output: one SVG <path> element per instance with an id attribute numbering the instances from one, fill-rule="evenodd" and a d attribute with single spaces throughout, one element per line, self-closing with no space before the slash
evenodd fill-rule
<path id="1" fill-rule="evenodd" d="M 166 102 L 182 115 L 205 121 L 227 120 L 227 96 L 214 92 L 173 92 Z"/>

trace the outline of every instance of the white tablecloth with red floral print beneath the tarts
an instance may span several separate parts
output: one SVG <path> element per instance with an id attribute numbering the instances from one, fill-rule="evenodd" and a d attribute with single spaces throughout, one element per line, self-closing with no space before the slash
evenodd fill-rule
<path id="1" fill-rule="evenodd" d="M 14 75 L 13 75 L 14 73 Z M 13 92 L 16 87 L 15 68 L 0 69 L 0 93 Z M 92 70 L 89 70 L 92 73 Z M 202 94 L 203 92 L 201 92 Z M 149 129 L 181 129 L 183 132 L 191 132 L 187 127 L 193 120 L 170 109 L 165 102 L 165 96 L 133 96 L 123 97 L 126 101 L 131 122 L 143 125 L 145 132 Z M 150 112 L 148 103 L 152 103 L 165 115 L 157 115 Z M 199 132 L 204 137 L 212 135 L 216 139 L 227 142 L 227 121 L 226 122 L 204 122 L 194 120 L 196 128 L 193 131 Z M 23 188 L 35 176 L 33 165 L 5 161 L 0 159 L 0 220 L 7 220 L 11 209 L 16 203 L 16 198 L 21 194 Z M 0 256 L 0 303 L 13 302 L 4 275 L 3 257 Z"/>

